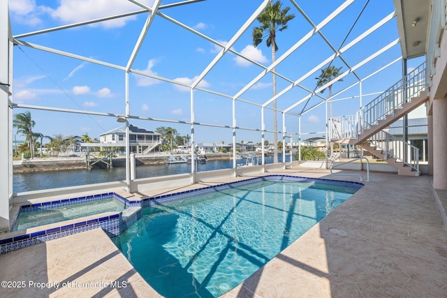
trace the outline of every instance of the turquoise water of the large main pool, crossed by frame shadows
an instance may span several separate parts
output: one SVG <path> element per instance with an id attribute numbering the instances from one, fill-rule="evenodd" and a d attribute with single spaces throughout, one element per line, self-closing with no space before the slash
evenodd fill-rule
<path id="1" fill-rule="evenodd" d="M 261 181 L 143 210 L 113 239 L 163 297 L 219 297 L 357 189 Z"/>

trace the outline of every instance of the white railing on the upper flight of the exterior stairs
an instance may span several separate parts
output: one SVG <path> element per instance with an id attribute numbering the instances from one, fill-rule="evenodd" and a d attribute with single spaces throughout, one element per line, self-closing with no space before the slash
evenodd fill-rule
<path id="1" fill-rule="evenodd" d="M 409 98 L 419 96 L 423 90 L 425 90 L 425 62 L 362 108 L 360 119 L 365 121 L 365 126 L 360 129 L 359 134 L 362 134 L 364 129 L 370 128 L 370 125 L 385 119 L 386 115 L 394 114 L 394 111 L 402 108 Z"/>

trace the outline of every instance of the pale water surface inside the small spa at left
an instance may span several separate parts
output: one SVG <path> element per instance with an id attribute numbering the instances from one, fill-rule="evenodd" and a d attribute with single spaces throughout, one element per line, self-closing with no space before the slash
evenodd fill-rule
<path id="1" fill-rule="evenodd" d="M 35 211 L 20 211 L 15 221 L 14 230 L 24 230 L 59 221 L 91 216 L 109 211 L 122 211 L 124 204 L 115 198 L 104 198 L 89 202 L 79 202 L 50 209 L 38 209 Z"/>

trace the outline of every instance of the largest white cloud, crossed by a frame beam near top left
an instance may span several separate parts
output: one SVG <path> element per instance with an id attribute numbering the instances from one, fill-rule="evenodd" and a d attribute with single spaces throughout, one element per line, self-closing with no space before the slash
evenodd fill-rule
<path id="1" fill-rule="evenodd" d="M 148 3 L 148 1 L 142 1 Z M 149 6 L 154 2 L 149 1 Z M 130 1 L 122 0 L 61 0 L 61 5 L 55 10 L 51 10 L 51 16 L 61 20 L 63 23 L 75 23 L 85 20 L 94 20 L 99 17 L 117 15 L 133 10 L 139 7 Z M 101 26 L 104 28 L 117 28 L 126 25 L 126 22 L 135 20 L 136 16 L 120 17 L 107 22 L 99 22 L 91 26 Z"/>

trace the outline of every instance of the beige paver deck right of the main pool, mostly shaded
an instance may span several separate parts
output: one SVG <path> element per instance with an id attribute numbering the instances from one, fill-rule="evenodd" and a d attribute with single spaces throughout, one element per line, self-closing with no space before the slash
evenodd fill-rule
<path id="1" fill-rule="evenodd" d="M 223 297 L 447 297 L 447 233 L 429 179 L 372 173 L 356 195 Z"/>

